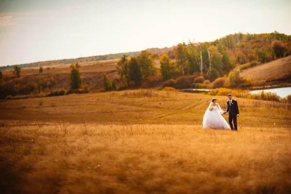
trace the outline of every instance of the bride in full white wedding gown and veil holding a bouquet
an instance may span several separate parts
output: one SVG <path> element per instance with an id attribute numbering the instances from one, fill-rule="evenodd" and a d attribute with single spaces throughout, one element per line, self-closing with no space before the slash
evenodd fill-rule
<path id="1" fill-rule="evenodd" d="M 203 128 L 211 129 L 229 129 L 226 119 L 221 115 L 224 111 L 220 108 L 219 104 L 216 103 L 217 99 L 212 98 L 209 107 L 207 108 L 203 116 Z"/>

